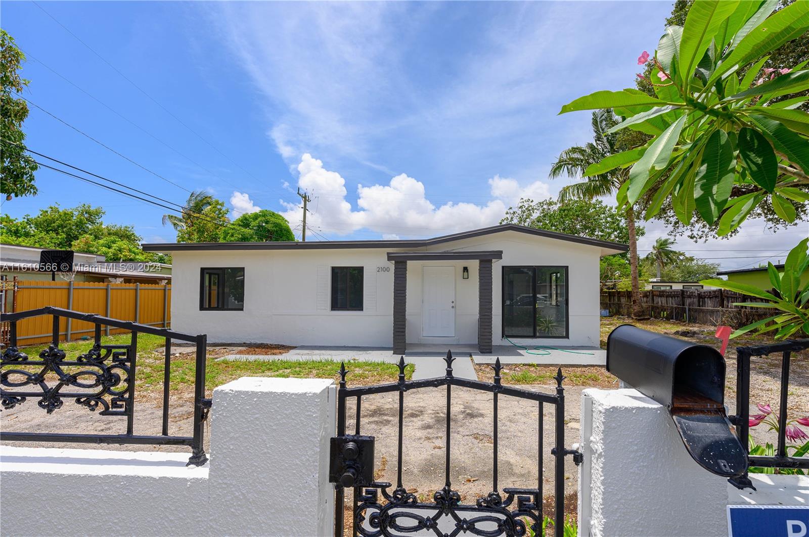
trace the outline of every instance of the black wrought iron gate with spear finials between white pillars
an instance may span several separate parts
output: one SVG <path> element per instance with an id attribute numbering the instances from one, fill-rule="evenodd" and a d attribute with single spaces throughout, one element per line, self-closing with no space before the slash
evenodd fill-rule
<path id="1" fill-rule="evenodd" d="M 340 383 L 337 390 L 337 438 L 332 438 L 330 479 L 335 483 L 334 533 L 344 534 L 345 488 L 354 488 L 354 520 L 352 534 L 366 537 L 396 537 L 413 533 L 432 531 L 438 537 L 455 535 L 484 535 L 486 537 L 521 537 L 542 534 L 542 502 L 544 463 L 544 404 L 553 404 L 555 413 L 554 447 L 550 454 L 554 457 L 554 514 L 553 528 L 557 537 L 564 531 L 565 503 L 565 455 L 573 455 L 575 463 L 581 463 L 582 455 L 576 450 L 565 449 L 565 390 L 561 387 L 564 376 L 557 370 L 554 394 L 523 390 L 503 386 L 501 383 L 500 360 L 494 363 L 494 382 L 484 383 L 467 378 L 457 378 L 452 374 L 451 352 L 447 352 L 447 372 L 443 377 L 408 381 L 404 378 L 404 357 L 399 362 L 399 380 L 396 383 L 376 386 L 346 387 L 348 373 L 345 364 L 340 367 Z M 413 493 L 408 493 L 402 479 L 402 440 L 404 435 L 404 392 L 425 387 L 447 387 L 447 430 L 444 485 L 433 495 L 433 501 L 419 501 Z M 493 394 L 493 487 L 492 492 L 478 498 L 474 505 L 461 503 L 460 494 L 452 488 L 450 480 L 450 444 L 452 387 L 466 387 L 473 390 L 489 391 Z M 390 483 L 374 480 L 373 457 L 374 438 L 360 435 L 362 397 L 388 392 L 399 392 L 399 439 L 396 458 L 396 488 L 389 492 Z M 499 488 L 498 484 L 498 396 L 508 395 L 536 401 L 539 409 L 537 452 L 538 463 L 536 488 Z M 354 434 L 345 433 L 346 400 L 356 398 Z M 379 497 L 381 493 L 381 498 Z M 528 521 L 528 522 L 526 522 Z M 440 527 L 439 527 L 440 526 Z M 449 531 L 447 531 L 449 529 Z"/>

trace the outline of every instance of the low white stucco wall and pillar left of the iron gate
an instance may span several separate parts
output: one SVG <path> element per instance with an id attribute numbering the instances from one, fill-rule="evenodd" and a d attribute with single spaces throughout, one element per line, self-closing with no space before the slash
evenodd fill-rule
<path id="1" fill-rule="evenodd" d="M 188 453 L 0 448 L 2 535 L 332 535 L 336 388 L 214 389 L 210 463 Z"/>

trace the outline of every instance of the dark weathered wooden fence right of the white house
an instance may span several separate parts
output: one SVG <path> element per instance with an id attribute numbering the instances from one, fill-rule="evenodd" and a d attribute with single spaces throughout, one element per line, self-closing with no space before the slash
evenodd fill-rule
<path id="1" fill-rule="evenodd" d="M 777 313 L 773 308 L 735 306 L 734 302 L 762 301 L 722 289 L 641 291 L 642 311 L 654 319 L 741 328 Z M 601 309 L 610 315 L 631 316 L 632 291 L 601 291 Z"/>

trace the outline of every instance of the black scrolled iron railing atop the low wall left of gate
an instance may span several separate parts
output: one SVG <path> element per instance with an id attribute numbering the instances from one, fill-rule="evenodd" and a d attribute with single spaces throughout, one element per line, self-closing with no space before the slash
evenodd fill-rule
<path id="1" fill-rule="evenodd" d="M 28 357 L 17 347 L 17 323 L 22 319 L 53 316 L 53 340 L 38 357 Z M 71 360 L 59 348 L 61 319 L 85 321 L 94 325 L 94 343 L 87 353 Z M 9 345 L 0 360 L 0 404 L 11 409 L 25 403 L 28 398 L 47 413 L 61 408 L 66 399 L 101 416 L 126 418 L 125 434 L 86 433 L 18 433 L 0 432 L 0 439 L 22 442 L 88 442 L 99 444 L 142 444 L 189 446 L 192 456 L 188 464 L 201 466 L 208 457 L 202 446 L 205 420 L 210 410 L 210 399 L 205 398 L 205 334 L 192 336 L 167 328 L 109 319 L 100 315 L 42 307 L 18 313 L 2 313 L 0 321 L 9 323 Z M 121 328 L 131 332 L 129 345 L 102 345 L 102 326 Z M 138 334 L 152 334 L 166 338 L 163 371 L 163 427 L 159 435 L 134 434 L 135 378 L 138 367 Z M 196 370 L 194 378 L 193 436 L 171 436 L 168 433 L 169 379 L 171 375 L 172 340 L 196 344 Z M 52 379 L 56 382 L 53 383 Z M 32 387 L 38 389 L 32 390 Z M 11 390 L 9 388 L 12 388 Z"/>

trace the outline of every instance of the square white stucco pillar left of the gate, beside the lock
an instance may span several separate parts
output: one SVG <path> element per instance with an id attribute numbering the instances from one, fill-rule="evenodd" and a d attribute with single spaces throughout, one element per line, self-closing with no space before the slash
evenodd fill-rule
<path id="1" fill-rule="evenodd" d="M 244 377 L 214 389 L 212 533 L 332 535 L 336 397 L 323 378 Z"/>

